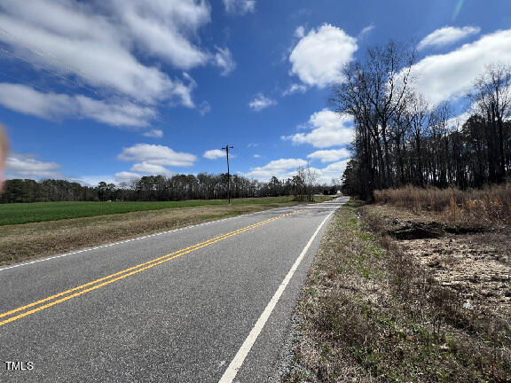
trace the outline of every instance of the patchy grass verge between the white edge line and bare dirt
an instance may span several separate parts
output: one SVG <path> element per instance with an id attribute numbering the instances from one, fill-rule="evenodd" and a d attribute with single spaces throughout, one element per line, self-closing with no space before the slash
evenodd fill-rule
<path id="1" fill-rule="evenodd" d="M 286 383 L 511 381 L 509 318 L 464 307 L 354 201 L 334 215 L 296 316 Z"/>

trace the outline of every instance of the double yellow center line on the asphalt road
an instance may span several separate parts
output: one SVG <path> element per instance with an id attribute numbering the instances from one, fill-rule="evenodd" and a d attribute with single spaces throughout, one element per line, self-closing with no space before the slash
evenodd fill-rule
<path id="1" fill-rule="evenodd" d="M 69 301 L 70 299 L 73 299 L 73 298 L 80 296 L 84 293 L 90 293 L 91 291 L 96 290 L 99 287 L 110 285 L 118 280 L 124 279 L 125 277 L 130 277 L 134 274 L 138 274 L 141 271 L 148 270 L 148 269 L 153 268 L 154 266 L 160 265 L 161 263 L 169 262 L 173 259 L 176 259 L 176 258 L 182 256 L 182 255 L 192 253 L 196 250 L 199 250 L 202 247 L 213 245 L 216 242 L 220 242 L 226 238 L 231 238 L 231 237 L 237 236 L 245 231 L 253 230 L 259 226 L 263 226 L 264 224 L 271 223 L 273 221 L 277 221 L 280 218 L 284 218 L 288 215 L 294 215 L 295 213 L 298 213 L 299 211 L 302 211 L 302 210 L 295 210 L 294 212 L 287 213 L 285 215 L 278 215 L 278 216 L 268 219 L 266 221 L 252 224 L 250 226 L 244 227 L 237 231 L 231 231 L 226 234 L 220 235 L 218 237 L 210 238 L 204 242 L 200 242 L 193 246 L 188 246 L 188 247 L 185 247 L 184 249 L 177 250 L 174 253 L 163 255 L 161 257 L 155 258 L 148 262 L 140 263 L 136 266 L 130 267 L 129 269 L 118 271 L 118 272 L 116 272 L 114 274 L 110 274 L 106 277 L 100 277 L 99 279 L 93 280 L 93 281 L 88 282 L 83 285 L 73 287 L 69 290 L 66 290 L 65 292 L 56 293 L 56 294 L 51 295 L 51 296 L 44 298 L 42 300 L 34 301 L 32 303 L 29 303 L 28 305 L 21 306 L 18 309 L 12 309 L 10 311 L 4 312 L 4 314 L 0 314 L 0 326 L 14 322 L 22 317 L 27 317 L 27 316 L 34 314 L 38 311 L 41 311 L 43 309 L 51 308 L 51 306 L 55 306 L 59 303 Z M 2 320 L 2 318 L 6 318 L 6 319 Z"/>

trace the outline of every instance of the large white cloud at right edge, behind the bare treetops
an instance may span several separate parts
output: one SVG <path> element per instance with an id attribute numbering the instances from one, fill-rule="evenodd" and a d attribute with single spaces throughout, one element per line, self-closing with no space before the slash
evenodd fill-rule
<path id="1" fill-rule="evenodd" d="M 511 63 L 511 29 L 483 35 L 455 51 L 428 56 L 413 66 L 415 87 L 431 106 L 460 97 L 472 88 L 476 77 L 493 63 Z"/>

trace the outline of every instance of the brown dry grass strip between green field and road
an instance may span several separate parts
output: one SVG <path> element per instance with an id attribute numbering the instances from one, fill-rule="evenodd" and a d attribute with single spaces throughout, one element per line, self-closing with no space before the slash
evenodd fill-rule
<path id="1" fill-rule="evenodd" d="M 317 202 L 330 198 L 321 197 Z M 259 200 L 259 202 L 262 202 Z M 174 207 L 124 214 L 98 215 L 41 223 L 0 226 L 0 265 L 66 253 L 159 231 L 216 219 L 299 204 L 289 199 L 231 206 Z"/>

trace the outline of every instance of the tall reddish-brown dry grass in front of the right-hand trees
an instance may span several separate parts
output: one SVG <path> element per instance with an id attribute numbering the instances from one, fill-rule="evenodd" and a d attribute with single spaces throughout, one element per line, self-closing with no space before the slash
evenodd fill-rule
<path id="1" fill-rule="evenodd" d="M 511 184 L 468 191 L 405 186 L 374 191 L 374 199 L 377 203 L 405 207 L 415 213 L 435 212 L 451 222 L 511 223 Z"/>

